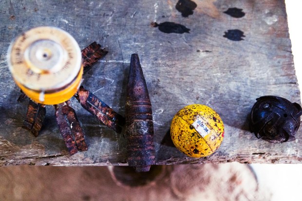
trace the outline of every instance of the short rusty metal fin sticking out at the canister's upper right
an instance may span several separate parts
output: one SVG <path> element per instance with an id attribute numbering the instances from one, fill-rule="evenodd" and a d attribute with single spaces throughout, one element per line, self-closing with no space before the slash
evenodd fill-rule
<path id="1" fill-rule="evenodd" d="M 82 65 L 86 72 L 95 62 L 108 53 L 105 49 L 101 49 L 101 45 L 96 42 L 91 43 L 82 50 Z"/>

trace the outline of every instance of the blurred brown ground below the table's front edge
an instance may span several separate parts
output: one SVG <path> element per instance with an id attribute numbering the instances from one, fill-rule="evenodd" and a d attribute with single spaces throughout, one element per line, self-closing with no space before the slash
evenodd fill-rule
<path id="1" fill-rule="evenodd" d="M 246 164 L 0 167 L 1 201 L 269 201 Z"/>

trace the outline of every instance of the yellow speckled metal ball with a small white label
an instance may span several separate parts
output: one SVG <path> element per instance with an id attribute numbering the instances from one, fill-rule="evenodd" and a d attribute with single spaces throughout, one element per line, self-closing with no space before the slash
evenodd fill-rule
<path id="1" fill-rule="evenodd" d="M 174 145 L 190 157 L 214 153 L 224 138 L 224 124 L 219 114 L 208 106 L 194 104 L 179 110 L 171 123 Z"/>

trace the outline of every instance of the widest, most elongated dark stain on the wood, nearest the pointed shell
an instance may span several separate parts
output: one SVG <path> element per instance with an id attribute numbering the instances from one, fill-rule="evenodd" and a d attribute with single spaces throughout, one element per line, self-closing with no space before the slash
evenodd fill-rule
<path id="1" fill-rule="evenodd" d="M 190 29 L 188 29 L 184 25 L 177 24 L 177 23 L 170 22 L 170 21 L 165 21 L 160 24 L 158 24 L 156 22 L 152 22 L 151 26 L 158 27 L 159 31 L 164 32 L 166 34 L 171 34 L 171 33 L 184 34 L 184 33 L 189 33 L 189 31 L 190 31 Z"/>

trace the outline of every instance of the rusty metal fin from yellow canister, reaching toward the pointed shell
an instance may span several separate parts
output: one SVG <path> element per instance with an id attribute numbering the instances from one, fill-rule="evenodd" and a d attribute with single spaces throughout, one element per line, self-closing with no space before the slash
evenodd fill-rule
<path id="1" fill-rule="evenodd" d="M 116 113 L 92 92 L 85 90 L 82 86 L 75 96 L 85 110 L 96 116 L 107 127 L 112 128 L 117 133 L 121 133 L 122 128 L 120 126 L 125 124 L 123 116 Z"/>

